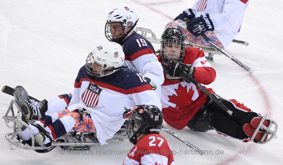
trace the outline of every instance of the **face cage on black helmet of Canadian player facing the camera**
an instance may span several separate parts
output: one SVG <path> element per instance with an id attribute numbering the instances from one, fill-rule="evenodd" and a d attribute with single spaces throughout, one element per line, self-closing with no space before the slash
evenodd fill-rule
<path id="1" fill-rule="evenodd" d="M 160 54 L 165 63 L 169 61 L 181 62 L 185 55 L 185 43 L 176 39 L 161 41 Z"/>

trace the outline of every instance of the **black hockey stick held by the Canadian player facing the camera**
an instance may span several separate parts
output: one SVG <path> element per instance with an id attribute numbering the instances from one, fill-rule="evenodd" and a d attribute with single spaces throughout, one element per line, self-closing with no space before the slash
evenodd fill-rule
<path id="1" fill-rule="evenodd" d="M 161 65 L 163 67 L 163 72 L 169 73 L 169 69 L 167 68 L 167 65 L 165 65 L 164 63 L 161 63 Z M 191 76 L 189 76 L 185 72 L 182 72 L 180 78 L 183 78 L 184 80 L 189 81 L 193 83 L 194 85 L 196 85 L 196 87 L 198 87 L 203 93 L 205 93 L 205 95 L 207 95 L 211 100 L 213 100 L 217 105 L 219 105 L 227 113 L 229 113 L 230 116 L 232 115 L 233 112 L 229 110 L 229 108 L 227 108 L 224 104 L 222 104 L 216 97 L 214 97 L 211 93 L 209 93 L 209 91 L 207 91 L 202 85 L 200 85 L 200 83 L 194 80 Z"/>

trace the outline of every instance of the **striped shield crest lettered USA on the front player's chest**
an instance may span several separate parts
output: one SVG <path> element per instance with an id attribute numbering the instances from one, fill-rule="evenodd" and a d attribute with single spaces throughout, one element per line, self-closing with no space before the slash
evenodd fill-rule
<path id="1" fill-rule="evenodd" d="M 102 90 L 96 84 L 89 82 L 89 86 L 82 94 L 83 103 L 90 108 L 96 107 Z"/>

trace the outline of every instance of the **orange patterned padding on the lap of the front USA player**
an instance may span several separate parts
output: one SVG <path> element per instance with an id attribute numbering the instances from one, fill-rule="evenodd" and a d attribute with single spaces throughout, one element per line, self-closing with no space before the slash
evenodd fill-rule
<path id="1" fill-rule="evenodd" d="M 96 132 L 95 125 L 93 124 L 90 115 L 85 113 L 83 114 L 83 123 L 80 123 L 80 114 L 77 110 L 69 112 L 69 110 L 66 109 L 58 113 L 59 118 L 65 115 L 69 115 L 75 119 L 75 125 L 72 130 L 77 132 Z"/>

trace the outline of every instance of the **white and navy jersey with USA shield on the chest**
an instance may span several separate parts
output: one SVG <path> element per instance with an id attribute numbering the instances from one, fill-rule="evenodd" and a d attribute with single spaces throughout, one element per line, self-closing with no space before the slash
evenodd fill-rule
<path id="1" fill-rule="evenodd" d="M 142 74 L 121 68 L 113 74 L 91 78 L 83 66 L 76 78 L 68 110 L 88 110 L 98 141 L 103 145 L 124 123 L 124 107 L 140 104 L 154 105 L 161 109 L 160 100 Z"/>

